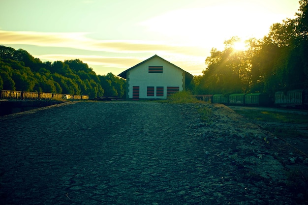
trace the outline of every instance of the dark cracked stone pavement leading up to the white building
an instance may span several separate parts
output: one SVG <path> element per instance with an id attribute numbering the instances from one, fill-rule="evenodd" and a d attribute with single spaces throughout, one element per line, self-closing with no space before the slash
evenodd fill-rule
<path id="1" fill-rule="evenodd" d="M 0 204 L 295 204 L 194 134 L 197 116 L 188 105 L 79 102 L 2 117 Z"/>

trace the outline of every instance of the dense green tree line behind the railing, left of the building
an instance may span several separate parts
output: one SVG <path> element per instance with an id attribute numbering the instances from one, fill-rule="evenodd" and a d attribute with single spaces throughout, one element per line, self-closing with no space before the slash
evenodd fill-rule
<path id="1" fill-rule="evenodd" d="M 0 89 L 100 96 L 125 95 L 125 80 L 96 75 L 79 59 L 42 62 L 23 49 L 0 46 Z"/>

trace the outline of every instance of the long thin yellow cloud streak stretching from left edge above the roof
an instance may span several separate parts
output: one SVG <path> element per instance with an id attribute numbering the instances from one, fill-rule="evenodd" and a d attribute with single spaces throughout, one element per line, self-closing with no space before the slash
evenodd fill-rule
<path id="1" fill-rule="evenodd" d="M 181 53 L 202 55 L 204 50 L 188 45 L 170 45 L 162 42 L 136 40 L 96 40 L 86 37 L 89 33 L 50 33 L 33 31 L 0 30 L 0 44 L 25 44 L 41 47 L 73 48 L 111 53 Z"/>

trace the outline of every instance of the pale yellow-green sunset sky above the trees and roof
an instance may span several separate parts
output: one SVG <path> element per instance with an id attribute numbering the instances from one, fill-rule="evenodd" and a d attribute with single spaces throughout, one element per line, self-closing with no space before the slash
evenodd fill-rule
<path id="1" fill-rule="evenodd" d="M 268 34 L 299 0 L 0 0 L 0 45 L 43 62 L 80 59 L 97 75 L 155 54 L 201 75 L 212 48 Z"/>

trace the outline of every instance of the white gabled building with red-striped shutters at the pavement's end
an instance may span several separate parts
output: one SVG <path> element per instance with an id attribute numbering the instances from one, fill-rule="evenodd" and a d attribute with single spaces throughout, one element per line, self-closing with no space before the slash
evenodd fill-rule
<path id="1" fill-rule="evenodd" d="M 185 90 L 193 76 L 171 62 L 154 55 L 123 71 L 127 99 L 166 99 Z"/>

